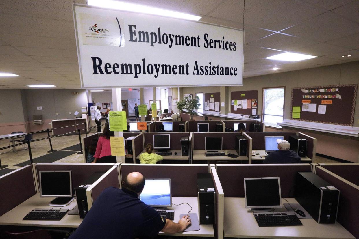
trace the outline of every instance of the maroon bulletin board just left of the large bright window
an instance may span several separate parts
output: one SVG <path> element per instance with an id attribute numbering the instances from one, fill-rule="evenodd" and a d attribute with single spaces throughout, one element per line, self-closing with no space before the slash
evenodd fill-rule
<path id="1" fill-rule="evenodd" d="M 230 113 L 240 114 L 240 115 L 256 115 L 257 110 L 258 110 L 257 90 L 230 92 Z"/>

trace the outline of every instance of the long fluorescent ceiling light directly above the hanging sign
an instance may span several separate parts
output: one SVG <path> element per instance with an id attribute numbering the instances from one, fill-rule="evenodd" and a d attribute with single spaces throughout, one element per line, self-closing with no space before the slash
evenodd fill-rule
<path id="1" fill-rule="evenodd" d="M 124 3 L 114 0 L 87 0 L 87 3 L 90 6 L 97 6 L 101 8 L 112 8 L 117 10 L 134 11 L 137 13 L 169 16 L 171 18 L 180 18 L 180 19 L 186 19 L 192 21 L 198 21 L 202 18 L 201 16 L 191 15 L 187 13 L 180 13 L 178 11 L 153 8 L 149 6 L 133 4 L 133 3 Z"/>

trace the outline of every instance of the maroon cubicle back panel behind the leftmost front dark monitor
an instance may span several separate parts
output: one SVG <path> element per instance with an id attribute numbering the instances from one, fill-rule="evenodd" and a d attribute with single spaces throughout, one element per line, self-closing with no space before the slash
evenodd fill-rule
<path id="1" fill-rule="evenodd" d="M 113 163 L 36 163 L 36 181 L 39 182 L 39 171 L 71 170 L 72 187 L 75 188 L 94 172 L 106 172 L 112 166 Z"/>

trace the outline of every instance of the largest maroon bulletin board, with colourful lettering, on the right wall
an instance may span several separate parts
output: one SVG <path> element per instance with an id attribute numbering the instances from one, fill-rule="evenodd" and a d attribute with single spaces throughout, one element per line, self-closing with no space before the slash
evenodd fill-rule
<path id="1" fill-rule="evenodd" d="M 358 85 L 292 88 L 290 119 L 353 126 Z"/>

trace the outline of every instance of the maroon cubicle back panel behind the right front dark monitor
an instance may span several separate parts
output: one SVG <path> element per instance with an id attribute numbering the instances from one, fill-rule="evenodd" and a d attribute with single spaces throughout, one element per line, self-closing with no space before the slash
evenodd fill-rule
<path id="1" fill-rule="evenodd" d="M 311 172 L 309 163 L 217 164 L 216 171 L 224 197 L 244 197 L 243 178 L 279 177 L 282 197 L 293 197 L 297 172 Z"/>

